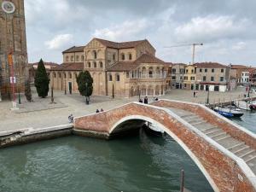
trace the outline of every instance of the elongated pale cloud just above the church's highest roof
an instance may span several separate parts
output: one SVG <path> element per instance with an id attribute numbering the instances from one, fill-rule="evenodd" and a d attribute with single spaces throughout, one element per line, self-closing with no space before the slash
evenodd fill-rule
<path id="1" fill-rule="evenodd" d="M 148 28 L 148 20 L 126 20 L 120 25 L 110 26 L 102 29 L 96 29 L 93 36 L 96 38 L 107 38 L 109 40 L 131 40 L 142 33 Z"/>

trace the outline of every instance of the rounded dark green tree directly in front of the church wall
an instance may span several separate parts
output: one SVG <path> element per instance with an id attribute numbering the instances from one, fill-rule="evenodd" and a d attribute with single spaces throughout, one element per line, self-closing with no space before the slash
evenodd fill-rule
<path id="1" fill-rule="evenodd" d="M 77 77 L 77 83 L 79 85 L 79 92 L 81 96 L 85 96 L 86 104 L 89 104 L 88 98 L 90 98 L 93 91 L 93 79 L 88 71 L 80 72 Z"/>

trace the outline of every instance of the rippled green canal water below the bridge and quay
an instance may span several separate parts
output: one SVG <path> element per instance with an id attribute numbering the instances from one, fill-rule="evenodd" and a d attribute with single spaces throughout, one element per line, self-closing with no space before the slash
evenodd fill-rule
<path id="1" fill-rule="evenodd" d="M 255 114 L 235 120 L 255 132 Z M 181 169 L 187 189 L 213 191 L 171 137 L 143 131 L 112 141 L 73 136 L 3 148 L 0 165 L 1 192 L 179 191 Z"/>

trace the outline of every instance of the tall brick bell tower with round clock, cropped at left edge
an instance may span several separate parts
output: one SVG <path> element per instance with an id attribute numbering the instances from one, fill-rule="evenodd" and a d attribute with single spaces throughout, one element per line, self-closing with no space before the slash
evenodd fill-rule
<path id="1" fill-rule="evenodd" d="M 0 0 L 0 101 L 12 98 L 12 76 L 15 92 L 24 92 L 28 80 L 24 0 Z"/>

